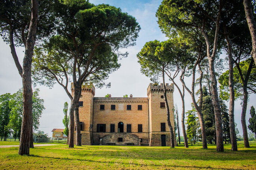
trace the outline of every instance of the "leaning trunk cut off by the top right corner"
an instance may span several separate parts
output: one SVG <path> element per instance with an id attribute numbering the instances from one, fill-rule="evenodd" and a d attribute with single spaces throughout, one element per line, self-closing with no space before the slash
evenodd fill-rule
<path id="1" fill-rule="evenodd" d="M 252 57 L 256 64 L 256 22 L 253 17 L 252 0 L 244 0 L 246 20 L 252 37 Z"/>

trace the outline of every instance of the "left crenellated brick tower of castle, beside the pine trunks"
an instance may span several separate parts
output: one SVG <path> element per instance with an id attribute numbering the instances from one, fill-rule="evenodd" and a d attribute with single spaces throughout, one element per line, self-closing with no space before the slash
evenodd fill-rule
<path id="1" fill-rule="evenodd" d="M 71 83 L 72 96 L 74 95 L 74 84 Z M 81 127 L 81 144 L 92 144 L 92 122 L 93 122 L 93 97 L 95 87 L 93 84 L 82 86 L 82 92 L 79 99 L 79 120 Z M 75 139 L 75 138 L 74 138 Z"/>

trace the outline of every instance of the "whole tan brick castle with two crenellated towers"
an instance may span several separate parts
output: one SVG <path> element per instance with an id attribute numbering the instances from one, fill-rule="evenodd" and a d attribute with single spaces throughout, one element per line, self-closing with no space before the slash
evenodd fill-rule
<path id="1" fill-rule="evenodd" d="M 174 128 L 173 90 L 173 84 L 166 83 L 170 121 Z M 71 91 L 73 95 L 73 83 Z M 150 83 L 148 97 L 132 97 L 132 94 L 130 97 L 94 96 L 95 87 L 83 85 L 79 101 L 82 145 L 170 146 L 162 83 L 159 86 Z"/>

